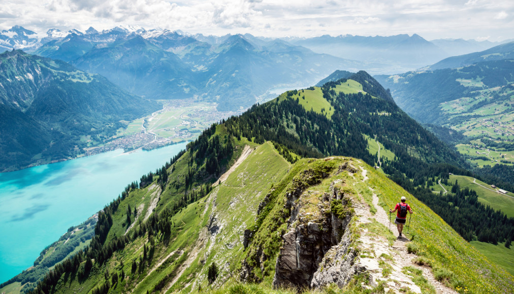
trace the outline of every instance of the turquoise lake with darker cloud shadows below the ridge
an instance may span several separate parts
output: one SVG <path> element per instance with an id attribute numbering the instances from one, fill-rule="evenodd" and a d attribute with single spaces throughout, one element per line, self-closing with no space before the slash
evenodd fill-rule
<path id="1" fill-rule="evenodd" d="M 0 283 L 32 266 L 39 253 L 155 171 L 186 143 L 152 151 L 115 150 L 0 173 Z"/>

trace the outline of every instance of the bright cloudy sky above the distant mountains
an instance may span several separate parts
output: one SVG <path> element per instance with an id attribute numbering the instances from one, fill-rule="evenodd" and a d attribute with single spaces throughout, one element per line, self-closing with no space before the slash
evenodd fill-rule
<path id="1" fill-rule="evenodd" d="M 514 38 L 512 0 L 3 0 L 0 29 L 97 30 L 139 25 L 259 36 L 395 35 Z"/>

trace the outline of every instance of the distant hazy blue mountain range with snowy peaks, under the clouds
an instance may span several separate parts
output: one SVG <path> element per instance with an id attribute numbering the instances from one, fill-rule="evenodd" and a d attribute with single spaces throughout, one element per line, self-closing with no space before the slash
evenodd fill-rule
<path id="1" fill-rule="evenodd" d="M 20 33 L 6 31 L 2 35 L 5 48 L 70 62 L 148 99 L 194 97 L 217 102 L 219 110 L 245 109 L 271 99 L 274 88 L 313 85 L 337 69 L 400 72 L 462 52 L 463 43 L 477 48 L 494 45 L 435 42 L 443 44 L 442 49 L 416 34 L 274 39 L 251 34 L 190 35 L 132 26 L 101 32 L 50 29 L 41 40 L 24 41 L 35 33 L 22 27 L 11 31 Z"/>

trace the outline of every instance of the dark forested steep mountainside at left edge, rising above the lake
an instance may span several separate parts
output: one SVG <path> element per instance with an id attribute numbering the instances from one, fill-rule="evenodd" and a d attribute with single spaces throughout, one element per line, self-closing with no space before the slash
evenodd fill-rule
<path id="1" fill-rule="evenodd" d="M 81 136 L 108 138 L 159 106 L 104 77 L 20 50 L 0 54 L 0 170 L 79 154 Z"/>

